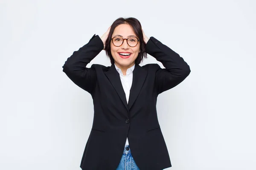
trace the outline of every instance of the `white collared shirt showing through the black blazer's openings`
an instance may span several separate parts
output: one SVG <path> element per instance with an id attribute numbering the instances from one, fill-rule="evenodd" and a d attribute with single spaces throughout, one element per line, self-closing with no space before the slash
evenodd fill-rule
<path id="1" fill-rule="evenodd" d="M 122 82 L 122 87 L 125 91 L 125 97 L 126 97 L 126 101 L 127 101 L 127 104 L 128 104 L 135 64 L 127 69 L 125 76 L 122 74 L 121 69 L 116 66 L 116 64 L 115 64 L 115 67 L 116 67 L 117 72 L 120 75 L 120 79 L 121 79 L 121 82 Z M 126 138 L 125 145 L 128 145 L 128 144 L 129 144 L 128 138 Z"/>

